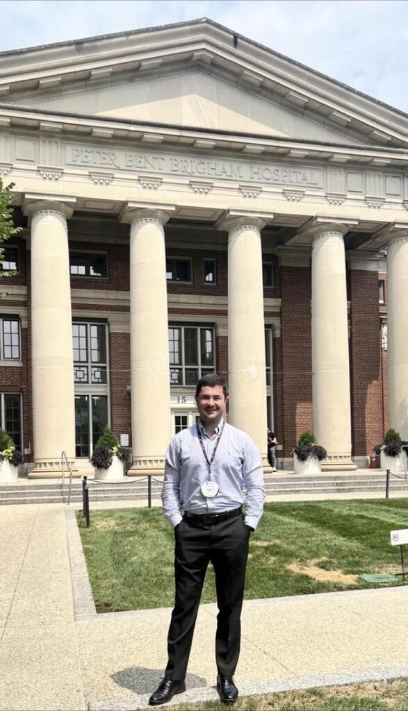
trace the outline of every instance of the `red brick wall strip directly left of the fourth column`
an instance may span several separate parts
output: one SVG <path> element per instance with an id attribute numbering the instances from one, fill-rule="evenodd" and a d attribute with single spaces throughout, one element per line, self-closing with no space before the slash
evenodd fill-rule
<path id="1" fill-rule="evenodd" d="M 282 419 L 276 419 L 275 432 L 289 456 L 299 434 L 312 429 L 310 269 L 282 267 L 281 293 Z"/>

